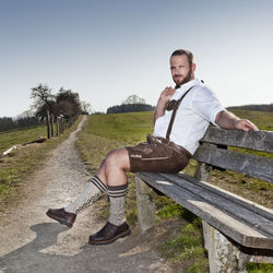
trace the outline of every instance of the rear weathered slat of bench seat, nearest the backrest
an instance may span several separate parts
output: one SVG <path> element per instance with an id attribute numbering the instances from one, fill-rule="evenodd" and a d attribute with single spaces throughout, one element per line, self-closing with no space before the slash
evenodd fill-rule
<path id="1" fill-rule="evenodd" d="M 229 215 L 233 215 L 236 219 L 246 223 L 250 227 L 263 233 L 268 237 L 273 238 L 273 212 L 270 218 L 266 218 L 262 215 L 257 214 L 252 210 L 252 205 L 246 203 L 244 206 L 238 205 L 236 201 L 235 194 L 218 194 L 213 188 L 210 186 L 202 185 L 201 181 L 195 179 L 194 182 L 183 179 L 174 175 L 162 175 L 167 180 L 178 185 L 182 189 L 187 189 L 192 194 L 199 195 L 204 202 L 212 204 L 218 210 L 226 212 Z M 219 189 L 221 191 L 221 189 Z M 224 192 L 222 192 L 224 193 Z M 265 213 L 264 213 L 265 215 Z"/>

